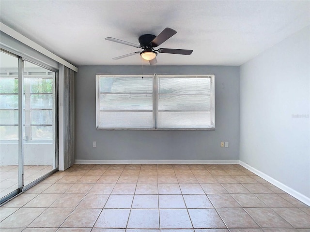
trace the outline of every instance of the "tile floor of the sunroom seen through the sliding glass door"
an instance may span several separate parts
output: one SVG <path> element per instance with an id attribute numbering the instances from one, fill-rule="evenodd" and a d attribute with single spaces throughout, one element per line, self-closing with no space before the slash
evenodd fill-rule
<path id="1" fill-rule="evenodd" d="M 53 167 L 48 165 L 25 165 L 24 185 L 28 185 L 34 180 L 52 171 Z M 0 166 L 0 198 L 13 192 L 18 188 L 18 166 Z"/>

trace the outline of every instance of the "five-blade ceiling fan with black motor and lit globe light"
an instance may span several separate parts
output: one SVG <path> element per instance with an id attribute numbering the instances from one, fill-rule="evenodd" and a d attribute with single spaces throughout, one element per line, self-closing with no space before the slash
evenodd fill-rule
<path id="1" fill-rule="evenodd" d="M 168 40 L 169 38 L 171 38 L 171 36 L 173 36 L 175 34 L 176 34 L 176 30 L 173 30 L 171 28 L 165 28 L 157 36 L 151 35 L 151 34 L 141 35 L 139 37 L 140 45 L 135 44 L 135 43 L 130 43 L 130 42 L 127 42 L 124 40 L 115 39 L 112 37 L 107 37 L 105 39 L 112 41 L 112 42 L 123 43 L 125 45 L 129 45 L 129 46 L 133 46 L 133 47 L 143 49 L 143 51 L 141 51 L 141 52 L 132 52 L 132 53 L 129 53 L 129 54 L 126 54 L 126 55 L 123 55 L 120 57 L 115 57 L 112 59 L 121 59 L 121 58 L 125 58 L 125 57 L 130 57 L 130 56 L 133 56 L 133 55 L 136 55 L 139 53 L 143 59 L 149 60 L 150 65 L 154 65 L 157 63 L 157 59 L 156 59 L 157 52 L 158 53 L 180 54 L 180 55 L 192 54 L 193 50 L 186 50 L 186 49 L 172 49 L 172 48 L 159 48 L 157 50 L 154 49 L 155 47 L 164 43 L 166 40 Z"/>

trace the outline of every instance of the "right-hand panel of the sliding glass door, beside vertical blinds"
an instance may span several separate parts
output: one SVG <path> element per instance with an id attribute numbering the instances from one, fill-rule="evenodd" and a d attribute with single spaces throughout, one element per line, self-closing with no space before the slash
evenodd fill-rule
<path id="1" fill-rule="evenodd" d="M 56 168 L 56 73 L 29 61 L 23 62 L 24 185 Z"/>

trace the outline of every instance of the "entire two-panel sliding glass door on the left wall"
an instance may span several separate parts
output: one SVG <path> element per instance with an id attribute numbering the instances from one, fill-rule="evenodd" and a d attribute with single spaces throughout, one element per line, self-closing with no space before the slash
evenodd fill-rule
<path id="1" fill-rule="evenodd" d="M 2 51 L 0 73 L 3 202 L 57 169 L 57 73 Z"/>

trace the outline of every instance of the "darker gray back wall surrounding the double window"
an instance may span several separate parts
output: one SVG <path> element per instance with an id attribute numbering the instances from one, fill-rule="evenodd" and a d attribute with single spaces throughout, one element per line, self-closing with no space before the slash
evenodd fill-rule
<path id="1" fill-rule="evenodd" d="M 144 74 L 215 74 L 215 131 L 96 130 L 95 75 L 139 74 L 141 66 L 79 66 L 77 160 L 239 160 L 239 67 L 144 66 Z M 97 147 L 93 147 L 93 141 Z M 220 141 L 229 141 L 221 148 Z"/>

